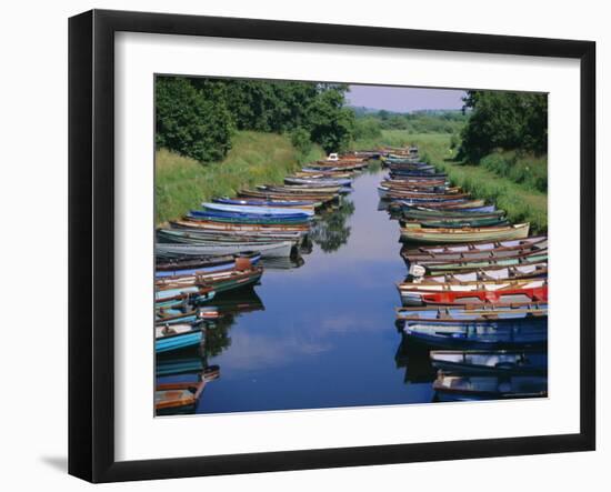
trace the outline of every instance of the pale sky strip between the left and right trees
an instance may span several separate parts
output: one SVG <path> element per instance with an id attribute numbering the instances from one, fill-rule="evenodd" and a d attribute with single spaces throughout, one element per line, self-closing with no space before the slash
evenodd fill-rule
<path id="1" fill-rule="evenodd" d="M 420 109 L 461 109 L 463 90 L 410 87 L 350 86 L 349 104 L 388 111 Z"/>

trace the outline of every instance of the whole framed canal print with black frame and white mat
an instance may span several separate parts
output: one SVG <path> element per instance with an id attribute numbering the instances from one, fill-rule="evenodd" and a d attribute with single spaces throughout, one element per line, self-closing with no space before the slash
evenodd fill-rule
<path id="1" fill-rule="evenodd" d="M 69 472 L 593 450 L 593 42 L 70 19 Z"/>

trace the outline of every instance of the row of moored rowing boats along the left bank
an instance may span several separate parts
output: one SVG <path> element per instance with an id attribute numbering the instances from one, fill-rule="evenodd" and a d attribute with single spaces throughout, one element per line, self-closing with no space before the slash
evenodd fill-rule
<path id="1" fill-rule="evenodd" d="M 252 290 L 267 268 L 299 263 L 319 212 L 351 191 L 370 154 L 331 154 L 286 177 L 282 184 L 240 190 L 203 202 L 157 230 L 156 353 L 158 414 L 194 411 L 204 385 L 219 375 L 207 345 L 227 315 L 223 295 Z M 226 294 L 227 293 L 227 294 Z M 240 305 L 238 303 L 237 305 Z M 186 357 L 193 350 L 200 358 Z M 190 382 L 173 376 L 193 369 Z"/>

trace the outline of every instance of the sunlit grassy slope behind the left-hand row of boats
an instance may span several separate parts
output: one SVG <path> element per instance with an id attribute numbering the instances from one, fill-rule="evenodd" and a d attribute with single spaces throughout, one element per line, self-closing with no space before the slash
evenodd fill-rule
<path id="1" fill-rule="evenodd" d="M 156 223 L 178 219 L 202 201 L 234 195 L 241 188 L 280 183 L 303 162 L 320 159 L 313 145 L 308 154 L 297 151 L 290 138 L 274 133 L 242 131 L 222 162 L 201 164 L 161 149 L 156 152 Z"/>

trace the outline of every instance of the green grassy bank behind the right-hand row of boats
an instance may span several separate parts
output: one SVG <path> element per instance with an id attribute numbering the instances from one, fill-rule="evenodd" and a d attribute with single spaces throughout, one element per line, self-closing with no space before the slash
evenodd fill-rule
<path id="1" fill-rule="evenodd" d="M 453 160 L 451 134 L 383 131 L 378 142 L 359 141 L 357 149 L 377 145 L 417 144 L 423 160 L 448 173 L 450 180 L 507 211 L 512 222 L 530 222 L 532 232 L 548 230 L 547 160 L 518 158 L 514 153 L 494 153 L 480 165 L 463 164 Z M 515 165 L 515 168 L 512 168 Z M 543 181 L 544 179 L 544 181 Z"/>

